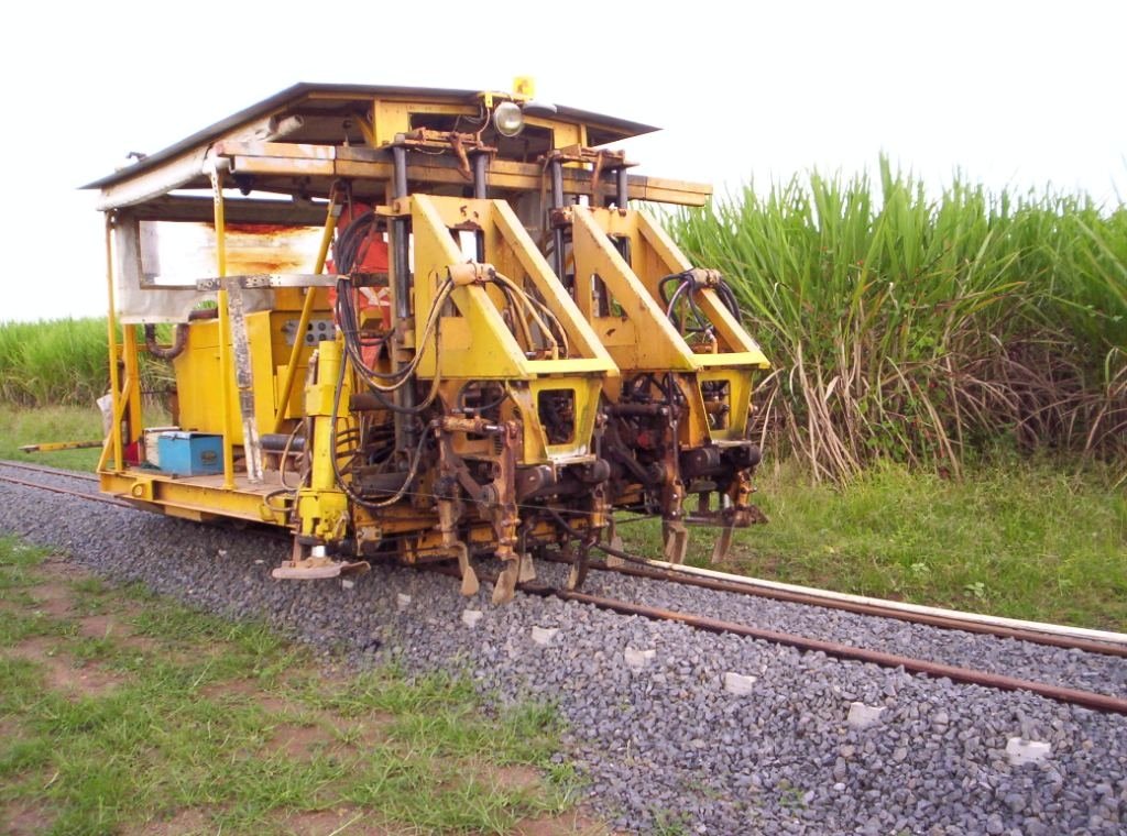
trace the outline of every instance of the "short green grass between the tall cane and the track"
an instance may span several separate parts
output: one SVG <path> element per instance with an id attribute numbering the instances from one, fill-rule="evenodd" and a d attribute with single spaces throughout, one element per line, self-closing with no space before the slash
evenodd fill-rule
<path id="1" fill-rule="evenodd" d="M 846 487 L 793 466 L 765 473 L 770 523 L 738 532 L 719 567 L 761 578 L 1018 619 L 1127 631 L 1127 496 L 1014 456 L 962 479 L 885 464 Z M 659 551 L 657 525 L 622 526 Z M 713 534 L 692 530 L 689 562 Z"/>

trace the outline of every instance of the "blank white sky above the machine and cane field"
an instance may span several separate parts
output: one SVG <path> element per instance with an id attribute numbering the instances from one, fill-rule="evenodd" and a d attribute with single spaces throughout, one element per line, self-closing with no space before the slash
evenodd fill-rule
<path id="1" fill-rule="evenodd" d="M 885 151 L 935 189 L 960 169 L 1117 204 L 1125 33 L 1113 0 L 17 3 L 0 34 L 0 320 L 103 313 L 101 220 L 76 187 L 296 81 L 533 75 L 538 98 L 665 127 L 630 157 L 721 193 Z"/>

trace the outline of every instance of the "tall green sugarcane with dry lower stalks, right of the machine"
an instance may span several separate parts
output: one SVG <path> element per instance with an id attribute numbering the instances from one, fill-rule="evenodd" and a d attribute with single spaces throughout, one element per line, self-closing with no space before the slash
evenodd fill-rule
<path id="1" fill-rule="evenodd" d="M 793 179 L 668 219 L 724 272 L 775 365 L 764 433 L 816 478 L 958 473 L 1000 437 L 1127 462 L 1127 208 L 938 197 L 879 175 Z"/>

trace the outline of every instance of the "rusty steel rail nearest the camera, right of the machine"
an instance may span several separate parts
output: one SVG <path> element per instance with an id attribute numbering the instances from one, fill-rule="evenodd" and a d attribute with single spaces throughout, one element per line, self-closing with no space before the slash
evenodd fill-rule
<path id="1" fill-rule="evenodd" d="M 712 633 L 731 633 L 748 639 L 762 639 L 763 641 L 777 644 L 787 644 L 805 651 L 822 651 L 827 656 L 838 659 L 851 659 L 853 661 L 870 662 L 887 668 L 904 668 L 914 674 L 925 674 L 934 677 L 947 677 L 952 682 L 966 685 L 980 685 L 996 691 L 1027 691 L 1038 696 L 1044 696 L 1056 702 L 1080 705 L 1085 709 L 1104 711 L 1115 714 L 1127 714 L 1127 700 L 1107 694 L 1097 694 L 1090 691 L 1079 691 L 1059 685 L 1032 682 L 1030 679 L 1018 679 L 1015 677 L 991 674 L 973 668 L 960 668 L 955 665 L 943 665 L 941 662 L 915 659 L 908 656 L 897 656 L 879 650 L 868 650 L 866 648 L 840 644 L 837 642 L 824 641 L 822 639 L 810 639 L 805 635 L 793 633 L 782 633 L 774 630 L 762 630 L 751 628 L 746 624 L 738 624 L 730 621 L 721 621 L 704 615 L 693 615 L 680 613 L 671 610 L 646 606 L 644 604 L 632 604 L 616 598 L 604 598 L 588 593 L 570 592 L 557 589 L 554 587 L 540 584 L 521 584 L 517 589 L 530 595 L 541 597 L 554 596 L 561 601 L 574 601 L 580 604 L 589 604 L 600 610 L 609 610 L 622 615 L 639 615 L 653 621 L 674 621 L 695 630 L 703 630 Z"/>

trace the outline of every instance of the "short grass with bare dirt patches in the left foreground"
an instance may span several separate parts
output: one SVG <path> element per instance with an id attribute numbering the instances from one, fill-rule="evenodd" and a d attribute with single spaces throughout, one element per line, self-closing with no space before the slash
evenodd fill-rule
<path id="1" fill-rule="evenodd" d="M 441 675 L 326 676 L 261 624 L 44 559 L 0 540 L 0 822 L 507 833 L 573 802 L 533 768 L 550 708 L 494 711 Z"/>

